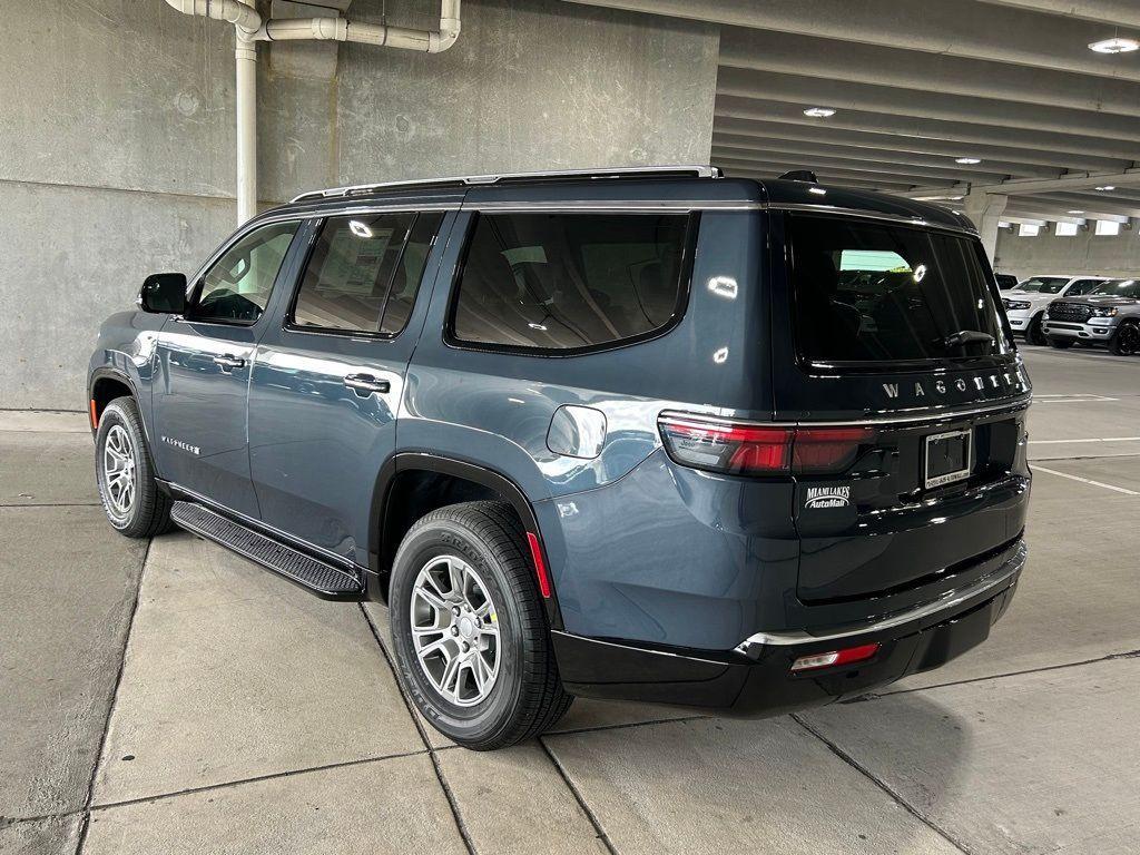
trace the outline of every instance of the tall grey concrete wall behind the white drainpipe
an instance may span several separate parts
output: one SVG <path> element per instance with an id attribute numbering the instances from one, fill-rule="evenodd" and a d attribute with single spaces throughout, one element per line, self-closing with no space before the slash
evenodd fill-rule
<path id="1" fill-rule="evenodd" d="M 275 9 L 285 6 L 274 0 Z M 82 409 L 99 319 L 234 226 L 228 25 L 162 0 L 11 3 L 0 30 L 0 407 Z M 388 0 L 430 26 L 435 0 Z M 351 15 L 380 21 L 380 0 Z M 262 46 L 260 196 L 433 174 L 708 162 L 716 28 L 467 0 L 447 54 Z M 274 52 L 276 51 L 276 52 Z"/>

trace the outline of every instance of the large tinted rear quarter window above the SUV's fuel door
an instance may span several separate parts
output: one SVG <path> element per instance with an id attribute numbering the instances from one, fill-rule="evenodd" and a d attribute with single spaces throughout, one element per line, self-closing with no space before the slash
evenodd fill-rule
<path id="1" fill-rule="evenodd" d="M 660 329 L 686 293 L 687 229 L 686 214 L 481 214 L 453 332 L 567 350 Z"/>

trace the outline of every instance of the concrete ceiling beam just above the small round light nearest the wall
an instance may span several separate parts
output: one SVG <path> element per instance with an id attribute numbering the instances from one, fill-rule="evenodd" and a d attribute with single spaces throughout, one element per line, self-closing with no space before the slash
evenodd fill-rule
<path id="1" fill-rule="evenodd" d="M 923 89 L 895 89 L 852 83 L 841 78 L 822 80 L 795 74 L 764 74 L 744 68 L 720 68 L 717 75 L 717 92 L 738 98 L 795 104 L 801 109 L 821 105 L 882 115 L 1019 128 L 1050 133 L 1070 133 L 1074 129 L 1078 129 L 1097 137 L 1127 140 L 1133 144 L 1140 139 L 1140 117 L 1135 113 L 1129 116 L 1090 113 L 1066 107 L 1016 104 L 997 98 L 970 98 Z"/>

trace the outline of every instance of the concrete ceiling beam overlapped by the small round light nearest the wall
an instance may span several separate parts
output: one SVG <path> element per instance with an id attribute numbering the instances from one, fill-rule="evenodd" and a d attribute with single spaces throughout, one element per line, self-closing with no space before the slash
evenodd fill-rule
<path id="1" fill-rule="evenodd" d="M 725 119 L 748 119 L 785 122 L 820 129 L 842 129 L 874 133 L 893 133 L 903 137 L 977 142 L 979 145 L 1018 146 L 1031 150 L 1069 152 L 1097 157 L 1113 157 L 1132 163 L 1138 156 L 1135 140 L 1105 139 L 1076 133 L 1029 132 L 1004 127 L 943 122 L 913 116 L 893 116 L 862 111 L 842 111 L 830 119 L 812 119 L 804 115 L 801 105 L 781 104 L 772 100 L 733 98 L 718 96 L 715 114 Z"/>

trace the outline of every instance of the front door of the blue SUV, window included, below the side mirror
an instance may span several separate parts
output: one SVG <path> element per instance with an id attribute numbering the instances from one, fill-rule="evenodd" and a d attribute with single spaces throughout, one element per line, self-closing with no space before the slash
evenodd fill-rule
<path id="1" fill-rule="evenodd" d="M 258 515 L 246 392 L 266 307 L 300 222 L 246 233 L 194 283 L 189 308 L 158 334 L 152 446 L 162 477 Z"/>

